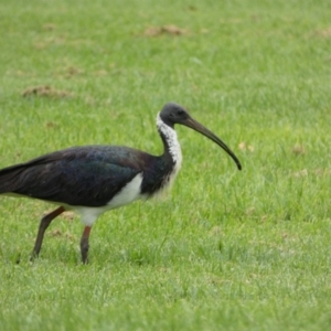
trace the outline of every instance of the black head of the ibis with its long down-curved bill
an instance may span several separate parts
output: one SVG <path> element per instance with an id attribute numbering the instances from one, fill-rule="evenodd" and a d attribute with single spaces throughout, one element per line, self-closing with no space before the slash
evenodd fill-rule
<path id="1" fill-rule="evenodd" d="M 169 127 L 173 128 L 175 124 L 189 127 L 203 136 L 207 137 L 215 143 L 217 143 L 220 147 L 222 147 L 235 161 L 238 169 L 242 170 L 242 164 L 238 160 L 238 158 L 234 154 L 234 152 L 226 146 L 225 142 L 223 142 L 216 135 L 214 135 L 211 130 L 205 128 L 203 125 L 201 125 L 199 121 L 193 119 L 189 113 L 180 105 L 177 105 L 174 103 L 167 104 L 161 113 L 160 118 L 162 121 L 168 125 Z"/>

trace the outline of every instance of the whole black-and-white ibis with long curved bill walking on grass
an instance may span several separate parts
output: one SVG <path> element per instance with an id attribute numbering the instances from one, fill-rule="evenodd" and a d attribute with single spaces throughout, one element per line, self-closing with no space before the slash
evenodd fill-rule
<path id="1" fill-rule="evenodd" d="M 211 139 L 242 170 L 234 152 L 175 103 L 166 104 L 157 115 L 157 129 L 163 143 L 161 156 L 125 146 L 78 146 L 1 169 L 0 195 L 32 197 L 56 205 L 40 221 L 31 260 L 39 256 L 52 221 L 65 211 L 73 211 L 81 215 L 84 225 L 79 246 L 82 263 L 87 264 L 89 234 L 98 216 L 170 188 L 182 162 L 175 125 Z"/>

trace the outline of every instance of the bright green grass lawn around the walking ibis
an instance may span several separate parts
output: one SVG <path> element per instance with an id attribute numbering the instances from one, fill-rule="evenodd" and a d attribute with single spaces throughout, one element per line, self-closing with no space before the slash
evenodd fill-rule
<path id="1" fill-rule="evenodd" d="M 148 36 L 177 25 L 181 35 Z M 0 167 L 61 148 L 161 152 L 157 111 L 188 107 L 243 163 L 178 134 L 169 197 L 83 226 L 1 197 L 1 330 L 328 330 L 331 32 L 324 0 L 0 3 Z M 49 85 L 70 96 L 26 96 Z M 17 261 L 20 260 L 19 264 Z"/>

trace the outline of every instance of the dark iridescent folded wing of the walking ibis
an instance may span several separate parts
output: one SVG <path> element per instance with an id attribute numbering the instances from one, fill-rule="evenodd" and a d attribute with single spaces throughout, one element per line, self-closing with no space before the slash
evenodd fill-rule
<path id="1" fill-rule="evenodd" d="M 143 172 L 150 158 L 127 147 L 71 148 L 0 170 L 0 193 L 100 206 Z"/>

